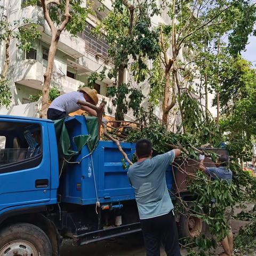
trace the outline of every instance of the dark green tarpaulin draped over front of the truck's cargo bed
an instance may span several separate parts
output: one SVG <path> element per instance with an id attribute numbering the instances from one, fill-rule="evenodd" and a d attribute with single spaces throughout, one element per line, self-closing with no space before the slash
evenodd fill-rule
<path id="1" fill-rule="evenodd" d="M 85 117 L 84 117 L 85 118 Z M 90 153 L 93 152 L 98 145 L 98 119 L 97 117 L 86 117 L 86 125 L 89 134 L 81 134 L 74 138 L 74 143 L 77 147 L 77 151 L 71 148 L 71 142 L 68 134 L 68 130 L 65 124 L 65 118 L 54 121 L 55 132 L 58 143 L 59 158 L 65 158 L 70 160 L 73 156 L 79 154 L 81 149 L 87 145 Z"/>

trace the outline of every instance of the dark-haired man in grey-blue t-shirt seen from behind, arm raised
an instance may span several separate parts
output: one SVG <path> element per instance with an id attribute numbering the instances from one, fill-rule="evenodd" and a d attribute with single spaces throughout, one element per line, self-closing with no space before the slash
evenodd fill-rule
<path id="1" fill-rule="evenodd" d="M 181 152 L 171 150 L 152 157 L 152 143 L 138 140 L 135 146 L 138 162 L 127 172 L 138 206 L 147 256 L 159 256 L 161 242 L 167 256 L 180 256 L 178 231 L 165 171 Z"/>

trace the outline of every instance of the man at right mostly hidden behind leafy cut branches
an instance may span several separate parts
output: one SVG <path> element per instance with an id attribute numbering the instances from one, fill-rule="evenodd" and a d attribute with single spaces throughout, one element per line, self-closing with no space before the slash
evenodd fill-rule
<path id="1" fill-rule="evenodd" d="M 231 183 L 232 180 L 232 172 L 228 168 L 229 165 L 229 157 L 227 155 L 221 155 L 218 157 L 217 167 L 205 167 L 204 166 L 204 155 L 199 155 L 199 169 L 204 171 L 208 176 L 213 179 L 226 180 L 228 184 Z M 231 216 L 233 214 L 233 209 L 231 206 L 226 207 L 225 210 L 225 219 L 228 226 L 228 236 L 226 236 L 222 241 L 221 245 L 223 247 L 224 252 L 221 254 L 222 256 L 231 256 L 233 253 L 233 233 L 231 229 Z"/>

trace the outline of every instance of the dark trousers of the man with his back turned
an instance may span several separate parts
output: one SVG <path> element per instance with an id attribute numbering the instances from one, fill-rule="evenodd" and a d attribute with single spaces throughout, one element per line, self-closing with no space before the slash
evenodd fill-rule
<path id="1" fill-rule="evenodd" d="M 173 211 L 140 222 L 147 256 L 160 256 L 161 242 L 167 256 L 180 256 L 178 230 Z"/>

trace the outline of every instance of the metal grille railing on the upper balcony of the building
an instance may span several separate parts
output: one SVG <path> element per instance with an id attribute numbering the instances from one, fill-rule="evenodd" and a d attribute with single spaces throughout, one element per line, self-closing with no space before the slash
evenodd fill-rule
<path id="1" fill-rule="evenodd" d="M 94 36 L 92 34 L 93 26 L 89 23 L 86 24 L 83 33 L 78 34 L 85 41 L 85 48 L 94 53 L 100 53 L 103 57 L 108 58 L 109 45 L 104 36 Z"/>

